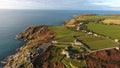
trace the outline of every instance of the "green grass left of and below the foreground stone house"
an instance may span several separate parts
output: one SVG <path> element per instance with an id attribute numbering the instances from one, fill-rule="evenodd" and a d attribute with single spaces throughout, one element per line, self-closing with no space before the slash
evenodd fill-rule
<path id="1" fill-rule="evenodd" d="M 81 68 L 85 67 L 85 62 L 81 61 L 78 62 L 78 60 L 73 60 L 67 57 L 64 57 L 64 55 L 61 54 L 62 49 L 64 48 L 63 46 L 58 46 L 58 47 L 52 47 L 50 49 L 51 55 L 50 55 L 50 61 L 51 62 L 57 62 L 57 63 L 62 63 L 65 65 L 65 68 Z"/>

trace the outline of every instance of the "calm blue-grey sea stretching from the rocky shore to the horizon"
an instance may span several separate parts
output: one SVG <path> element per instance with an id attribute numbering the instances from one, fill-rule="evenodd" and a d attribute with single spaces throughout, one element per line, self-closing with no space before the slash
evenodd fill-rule
<path id="1" fill-rule="evenodd" d="M 0 60 L 16 53 L 23 41 L 15 36 L 31 25 L 62 25 L 76 14 L 120 14 L 95 10 L 0 10 Z"/>

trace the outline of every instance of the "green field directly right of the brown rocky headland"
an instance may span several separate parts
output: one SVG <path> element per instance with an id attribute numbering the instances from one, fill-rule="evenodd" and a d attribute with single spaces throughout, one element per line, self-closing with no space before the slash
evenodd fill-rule
<path id="1" fill-rule="evenodd" d="M 56 39 L 59 42 L 73 42 L 73 40 L 75 40 L 73 36 L 75 34 L 79 34 L 77 32 L 68 30 L 64 26 L 50 26 L 49 29 L 56 33 Z"/>

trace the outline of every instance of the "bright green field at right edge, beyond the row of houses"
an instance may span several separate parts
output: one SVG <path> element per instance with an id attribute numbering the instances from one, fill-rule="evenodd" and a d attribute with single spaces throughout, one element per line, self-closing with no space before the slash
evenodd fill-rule
<path id="1" fill-rule="evenodd" d="M 98 23 L 87 24 L 88 29 L 96 33 L 109 36 L 113 39 L 120 39 L 120 26 L 118 25 L 103 25 Z"/>

